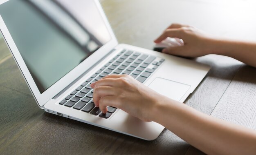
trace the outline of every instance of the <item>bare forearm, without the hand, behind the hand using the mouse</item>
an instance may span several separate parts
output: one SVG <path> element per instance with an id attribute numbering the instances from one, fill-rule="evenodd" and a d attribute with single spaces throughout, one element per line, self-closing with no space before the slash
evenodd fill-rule
<path id="1" fill-rule="evenodd" d="M 211 54 L 229 56 L 256 67 L 256 43 L 217 39 L 211 42 Z"/>

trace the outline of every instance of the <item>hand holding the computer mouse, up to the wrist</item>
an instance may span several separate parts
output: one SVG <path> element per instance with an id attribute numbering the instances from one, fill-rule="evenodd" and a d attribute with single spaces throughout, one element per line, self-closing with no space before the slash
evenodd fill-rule
<path id="1" fill-rule="evenodd" d="M 168 47 L 163 49 L 163 53 L 184 57 L 198 57 L 211 52 L 213 39 L 189 25 L 172 24 L 155 40 L 155 43 L 160 43 L 167 37 L 182 39 L 184 46 Z"/>

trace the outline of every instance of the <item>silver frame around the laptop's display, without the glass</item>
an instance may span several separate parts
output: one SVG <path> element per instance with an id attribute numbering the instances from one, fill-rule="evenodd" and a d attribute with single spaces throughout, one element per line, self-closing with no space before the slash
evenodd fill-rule
<path id="1" fill-rule="evenodd" d="M 0 0 L 0 5 L 4 2 L 7 2 L 9 0 Z M 97 6 L 97 9 L 99 10 L 99 13 L 101 14 L 101 17 L 103 19 L 103 22 L 105 23 L 108 32 L 110 33 L 110 41 L 108 41 L 105 45 L 103 45 L 100 49 L 98 49 L 96 52 L 94 52 L 92 55 L 90 55 L 86 60 L 81 62 L 78 66 L 76 66 L 74 69 L 72 69 L 69 73 L 67 73 L 63 78 L 58 80 L 56 83 L 54 83 L 52 86 L 50 86 L 46 91 L 44 91 L 42 94 L 38 90 L 36 83 L 34 82 L 31 74 L 29 73 L 29 70 L 22 59 L 22 56 L 20 55 L 20 52 L 13 41 L 6 25 L 4 24 L 4 20 L 2 19 L 2 16 L 0 15 L 0 31 L 3 35 L 3 38 L 5 42 L 7 43 L 7 46 L 9 47 L 9 50 L 11 51 L 14 60 L 16 61 L 23 77 L 25 78 L 25 81 L 27 82 L 29 89 L 31 90 L 32 94 L 34 95 L 34 98 L 40 106 L 40 108 L 43 107 L 43 105 L 52 99 L 55 95 L 57 95 L 59 92 L 61 92 L 65 87 L 67 87 L 70 83 L 72 83 L 76 78 L 78 78 L 82 73 L 85 71 L 88 71 L 91 66 L 93 66 L 96 62 L 101 60 L 105 55 L 107 55 L 115 46 L 117 46 L 118 42 L 115 37 L 114 32 L 112 31 L 110 24 L 108 22 L 108 19 L 103 11 L 103 8 L 101 7 L 101 4 L 99 0 L 93 0 Z M 15 8 L 13 8 L 15 9 Z"/>

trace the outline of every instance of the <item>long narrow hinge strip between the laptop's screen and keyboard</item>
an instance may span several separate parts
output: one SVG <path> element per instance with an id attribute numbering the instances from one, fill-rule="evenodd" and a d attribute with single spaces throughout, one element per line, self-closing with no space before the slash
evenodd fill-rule
<path id="1" fill-rule="evenodd" d="M 77 81 L 79 81 L 81 78 L 83 78 L 83 76 L 85 74 L 87 74 L 89 71 L 91 71 L 97 64 L 98 62 L 101 62 L 102 60 L 104 60 L 106 57 L 108 57 L 108 55 L 110 55 L 112 52 L 114 52 L 116 49 L 112 49 L 110 52 L 108 52 L 108 54 L 106 54 L 103 58 L 101 58 L 99 61 L 97 61 L 93 66 L 91 66 L 88 70 L 86 70 L 83 74 L 81 74 L 78 78 L 76 78 L 76 80 L 74 80 L 73 82 L 71 82 L 68 86 L 66 86 L 62 91 L 60 91 L 56 96 L 54 96 L 52 99 L 56 99 L 58 98 L 61 94 L 63 94 L 65 91 L 67 91 L 67 89 L 69 89 L 71 86 L 73 86 Z"/>

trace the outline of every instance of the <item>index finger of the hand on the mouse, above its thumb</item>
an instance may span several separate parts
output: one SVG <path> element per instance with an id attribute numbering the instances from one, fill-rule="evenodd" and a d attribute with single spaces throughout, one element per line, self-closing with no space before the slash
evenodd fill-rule
<path id="1" fill-rule="evenodd" d="M 156 40 L 155 43 L 162 42 L 167 37 L 171 38 L 182 38 L 182 31 L 181 29 L 166 29 L 162 35 L 160 35 Z"/>

